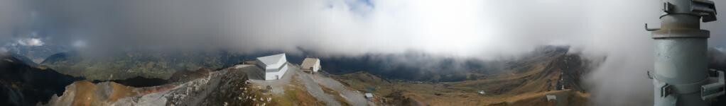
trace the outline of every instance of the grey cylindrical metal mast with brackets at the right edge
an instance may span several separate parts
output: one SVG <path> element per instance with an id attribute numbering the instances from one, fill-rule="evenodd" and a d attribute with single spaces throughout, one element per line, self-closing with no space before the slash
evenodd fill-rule
<path id="1" fill-rule="evenodd" d="M 660 28 L 648 28 L 655 45 L 653 105 L 710 105 L 724 94 L 723 72 L 709 71 L 706 57 L 709 31 L 701 22 L 716 21 L 709 0 L 662 0 Z M 717 74 L 717 75 L 712 75 Z"/>

